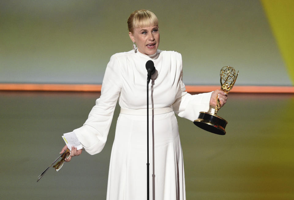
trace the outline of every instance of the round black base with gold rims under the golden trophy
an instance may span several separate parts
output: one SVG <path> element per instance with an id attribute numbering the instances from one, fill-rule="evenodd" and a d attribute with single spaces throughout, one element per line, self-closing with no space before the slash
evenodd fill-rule
<path id="1" fill-rule="evenodd" d="M 226 131 L 224 129 L 228 122 L 217 115 L 200 112 L 198 119 L 194 120 L 194 124 L 205 131 L 218 135 L 225 135 Z"/>

